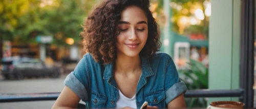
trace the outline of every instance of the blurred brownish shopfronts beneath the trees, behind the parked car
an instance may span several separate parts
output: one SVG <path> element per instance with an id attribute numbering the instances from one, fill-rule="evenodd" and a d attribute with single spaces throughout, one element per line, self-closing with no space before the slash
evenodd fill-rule
<path id="1" fill-rule="evenodd" d="M 40 58 L 49 64 L 62 61 L 64 57 L 70 61 L 77 62 L 83 55 L 82 45 L 69 43 L 69 46 L 59 46 L 53 43 L 51 36 L 37 36 L 36 43 L 16 43 L 4 41 L 3 57 L 20 56 Z"/>

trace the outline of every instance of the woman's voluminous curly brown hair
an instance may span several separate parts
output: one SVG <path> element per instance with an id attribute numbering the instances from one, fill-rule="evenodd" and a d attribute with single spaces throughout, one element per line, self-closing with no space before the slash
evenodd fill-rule
<path id="1" fill-rule="evenodd" d="M 147 17 L 148 37 L 140 56 L 152 56 L 161 47 L 159 26 L 150 11 L 148 0 L 104 0 L 88 15 L 82 25 L 81 37 L 86 40 L 84 51 L 91 53 L 95 61 L 103 64 L 114 62 L 117 51 L 118 21 L 121 12 L 129 7 L 141 8 Z"/>

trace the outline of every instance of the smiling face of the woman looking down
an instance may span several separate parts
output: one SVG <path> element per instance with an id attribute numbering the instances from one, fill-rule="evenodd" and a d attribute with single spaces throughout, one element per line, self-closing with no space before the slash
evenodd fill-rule
<path id="1" fill-rule="evenodd" d="M 127 7 L 121 12 L 117 36 L 117 54 L 138 56 L 147 39 L 147 17 L 139 7 Z"/>

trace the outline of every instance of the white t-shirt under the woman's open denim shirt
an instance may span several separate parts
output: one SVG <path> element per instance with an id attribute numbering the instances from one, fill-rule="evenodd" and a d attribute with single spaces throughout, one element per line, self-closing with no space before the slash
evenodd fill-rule
<path id="1" fill-rule="evenodd" d="M 119 90 L 118 95 L 119 95 L 119 97 L 118 97 L 117 102 L 116 102 L 116 108 L 121 108 L 121 107 L 125 107 L 125 106 L 129 106 L 129 107 L 132 107 L 132 108 L 137 108 L 136 94 L 132 98 L 127 98 Z"/>

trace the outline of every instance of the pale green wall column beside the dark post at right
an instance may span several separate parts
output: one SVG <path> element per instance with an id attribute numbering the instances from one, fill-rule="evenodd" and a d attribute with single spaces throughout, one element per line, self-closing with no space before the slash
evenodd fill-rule
<path id="1" fill-rule="evenodd" d="M 239 89 L 239 0 L 211 0 L 209 20 L 209 89 Z M 238 98 L 210 98 L 208 103 Z"/>

